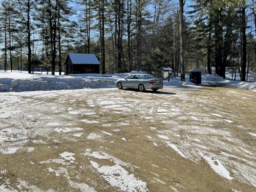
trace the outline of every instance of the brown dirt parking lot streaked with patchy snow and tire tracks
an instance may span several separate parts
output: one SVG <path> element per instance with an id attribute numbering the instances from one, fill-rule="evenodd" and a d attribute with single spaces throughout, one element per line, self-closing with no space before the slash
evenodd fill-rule
<path id="1" fill-rule="evenodd" d="M 255 191 L 256 92 L 0 93 L 0 191 Z"/>

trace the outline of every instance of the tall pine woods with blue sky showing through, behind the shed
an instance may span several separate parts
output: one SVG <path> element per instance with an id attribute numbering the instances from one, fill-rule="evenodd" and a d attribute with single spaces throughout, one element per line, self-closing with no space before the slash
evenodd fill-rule
<path id="1" fill-rule="evenodd" d="M 95 53 L 101 73 L 256 69 L 255 0 L 1 1 L 0 68 L 65 71 L 67 53 Z"/>

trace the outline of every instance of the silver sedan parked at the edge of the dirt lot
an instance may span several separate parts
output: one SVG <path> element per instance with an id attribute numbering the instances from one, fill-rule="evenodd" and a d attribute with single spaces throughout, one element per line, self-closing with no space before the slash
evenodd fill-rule
<path id="1" fill-rule="evenodd" d="M 129 75 L 124 79 L 118 79 L 116 85 L 118 89 L 132 88 L 138 89 L 140 92 L 147 89 L 157 91 L 158 89 L 163 88 L 163 81 L 150 74 L 134 74 Z"/>

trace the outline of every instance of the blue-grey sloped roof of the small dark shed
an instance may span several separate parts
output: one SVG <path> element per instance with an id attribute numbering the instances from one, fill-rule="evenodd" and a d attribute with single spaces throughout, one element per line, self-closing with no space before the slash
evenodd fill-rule
<path id="1" fill-rule="evenodd" d="M 73 64 L 100 65 L 100 62 L 95 54 L 69 53 L 69 57 Z"/>

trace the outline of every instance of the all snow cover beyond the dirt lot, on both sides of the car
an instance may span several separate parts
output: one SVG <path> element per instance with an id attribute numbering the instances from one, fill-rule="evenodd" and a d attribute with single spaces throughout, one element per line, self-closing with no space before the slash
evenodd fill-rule
<path id="1" fill-rule="evenodd" d="M 138 73 L 138 72 L 132 72 Z M 56 73 L 57 74 L 57 73 Z M 74 75 L 47 75 L 28 74 L 27 72 L 3 72 L 0 71 L 0 92 L 23 92 L 23 91 L 51 91 L 51 90 L 75 90 L 75 89 L 99 89 L 115 88 L 116 80 L 124 78 L 131 73 L 125 74 L 74 74 Z M 202 75 L 202 83 L 219 82 L 256 91 L 256 82 L 241 82 L 223 79 L 217 75 Z M 186 82 L 181 82 L 180 77 L 171 78 L 170 82 L 164 81 L 164 87 L 184 87 L 195 86 L 189 82 L 189 76 L 186 76 Z"/>

